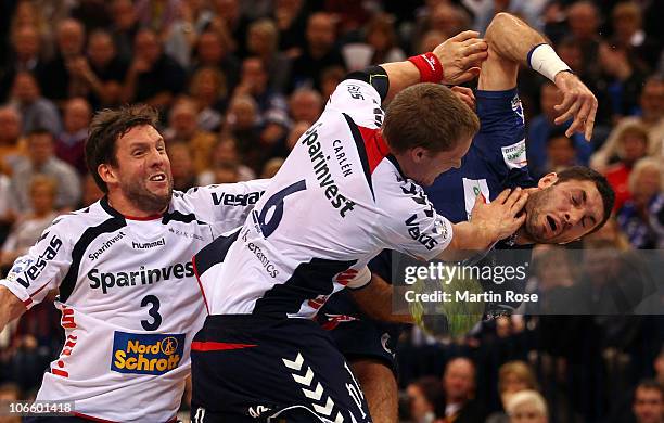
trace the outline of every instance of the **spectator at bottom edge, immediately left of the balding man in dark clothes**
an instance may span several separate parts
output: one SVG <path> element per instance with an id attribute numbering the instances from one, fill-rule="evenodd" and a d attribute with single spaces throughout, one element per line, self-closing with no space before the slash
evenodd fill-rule
<path id="1" fill-rule="evenodd" d="M 412 423 L 433 423 L 445 414 L 445 395 L 440 382 L 433 376 L 419 379 L 406 387 Z"/>

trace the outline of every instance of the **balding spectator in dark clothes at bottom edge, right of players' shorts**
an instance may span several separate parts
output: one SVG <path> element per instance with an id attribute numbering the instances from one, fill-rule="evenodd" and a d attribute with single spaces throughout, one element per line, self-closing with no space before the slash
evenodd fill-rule
<path id="1" fill-rule="evenodd" d="M 445 394 L 444 422 L 475 423 L 485 418 L 483 405 L 474 400 L 475 364 L 457 357 L 447 362 L 443 374 Z"/>

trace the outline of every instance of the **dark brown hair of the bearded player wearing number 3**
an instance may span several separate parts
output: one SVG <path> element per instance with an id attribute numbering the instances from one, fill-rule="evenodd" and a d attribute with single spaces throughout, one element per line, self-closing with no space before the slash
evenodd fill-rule
<path id="1" fill-rule="evenodd" d="M 117 166 L 117 140 L 137 126 L 156 128 L 157 111 L 149 105 L 127 105 L 117 110 L 105 108 L 94 115 L 86 141 L 86 164 L 97 185 L 108 192 L 106 182 L 99 176 L 99 165 Z"/>

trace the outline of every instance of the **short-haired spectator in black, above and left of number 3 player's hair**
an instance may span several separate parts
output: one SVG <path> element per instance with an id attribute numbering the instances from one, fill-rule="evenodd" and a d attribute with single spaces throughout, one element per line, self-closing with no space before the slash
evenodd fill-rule
<path id="1" fill-rule="evenodd" d="M 77 73 L 82 59 L 86 31 L 80 22 L 66 18 L 58 25 L 55 56 L 43 65 L 39 85 L 43 97 L 60 104 L 72 95 L 86 95 L 85 81 Z"/>

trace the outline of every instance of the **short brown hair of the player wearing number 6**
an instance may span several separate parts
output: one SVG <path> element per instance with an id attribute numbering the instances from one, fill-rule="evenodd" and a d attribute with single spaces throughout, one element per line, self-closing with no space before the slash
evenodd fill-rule
<path id="1" fill-rule="evenodd" d="M 383 124 L 383 136 L 395 153 L 416 146 L 432 153 L 450 151 L 478 130 L 480 119 L 468 105 L 449 88 L 430 82 L 399 92 Z"/>

